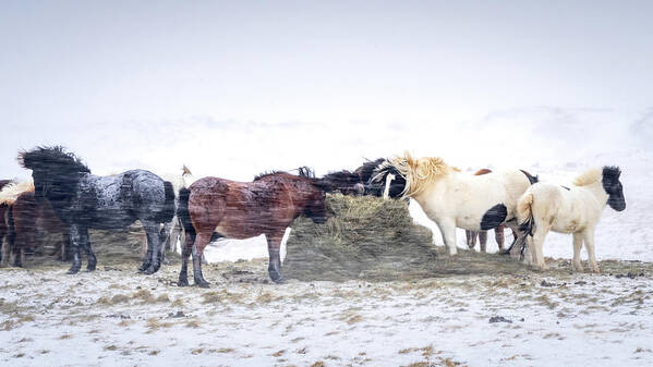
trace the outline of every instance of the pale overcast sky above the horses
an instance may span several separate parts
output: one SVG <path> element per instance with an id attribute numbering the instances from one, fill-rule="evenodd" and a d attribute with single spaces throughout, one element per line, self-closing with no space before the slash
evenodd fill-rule
<path id="1" fill-rule="evenodd" d="M 0 172 L 25 176 L 16 152 L 37 144 L 97 173 L 185 162 L 237 180 L 404 149 L 528 166 L 578 152 L 551 147 L 570 136 L 601 152 L 653 137 L 651 14 L 652 1 L 2 1 Z"/>

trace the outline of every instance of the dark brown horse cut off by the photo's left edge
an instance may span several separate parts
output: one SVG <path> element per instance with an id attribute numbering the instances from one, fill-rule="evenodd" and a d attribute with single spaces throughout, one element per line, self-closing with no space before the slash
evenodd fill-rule
<path id="1" fill-rule="evenodd" d="M 47 200 L 36 200 L 34 197 L 34 183 L 24 181 L 12 183 L 0 191 L 0 205 L 8 207 L 7 227 L 9 236 L 3 248 L 2 265 L 7 266 L 10 256 L 14 256 L 14 266 L 22 267 L 25 250 L 29 247 L 38 248 L 43 233 L 61 233 L 62 245 L 55 253 L 61 254 L 61 259 L 66 260 L 68 231 L 59 220 Z"/>

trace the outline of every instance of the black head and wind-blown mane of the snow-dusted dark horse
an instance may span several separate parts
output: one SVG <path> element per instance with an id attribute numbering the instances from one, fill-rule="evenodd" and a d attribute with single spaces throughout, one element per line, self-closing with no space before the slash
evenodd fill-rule
<path id="1" fill-rule="evenodd" d="M 63 147 L 36 147 L 19 154 L 19 163 L 32 170 L 34 197 L 61 200 L 76 191 L 80 173 L 90 173 L 72 152 Z"/>

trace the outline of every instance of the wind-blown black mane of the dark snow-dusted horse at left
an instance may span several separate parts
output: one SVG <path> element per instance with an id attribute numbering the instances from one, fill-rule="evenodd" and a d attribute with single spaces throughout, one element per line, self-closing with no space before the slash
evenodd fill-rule
<path id="1" fill-rule="evenodd" d="M 73 152 L 58 145 L 53 147 L 39 146 L 32 150 L 23 150 L 19 154 L 19 163 L 26 169 L 49 168 L 52 164 L 66 167 L 71 172 L 90 173 L 86 164 Z"/>

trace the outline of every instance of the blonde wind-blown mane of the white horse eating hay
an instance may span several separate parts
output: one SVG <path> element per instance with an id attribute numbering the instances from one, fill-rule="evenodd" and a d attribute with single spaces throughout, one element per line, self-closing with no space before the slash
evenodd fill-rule
<path id="1" fill-rule="evenodd" d="M 460 170 L 445 163 L 440 157 L 413 158 L 408 151 L 403 156 L 388 159 L 389 163 L 406 179 L 402 195 L 413 196 L 450 172 Z"/>

